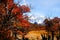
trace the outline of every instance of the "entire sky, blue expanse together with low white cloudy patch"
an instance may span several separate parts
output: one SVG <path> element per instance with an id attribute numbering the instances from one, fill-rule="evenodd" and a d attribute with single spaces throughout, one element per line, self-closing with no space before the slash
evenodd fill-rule
<path id="1" fill-rule="evenodd" d="M 32 15 L 31 22 L 42 23 L 45 17 L 60 17 L 60 0 L 25 0 L 25 2 L 31 6 L 31 12 L 28 13 L 28 16 Z"/>

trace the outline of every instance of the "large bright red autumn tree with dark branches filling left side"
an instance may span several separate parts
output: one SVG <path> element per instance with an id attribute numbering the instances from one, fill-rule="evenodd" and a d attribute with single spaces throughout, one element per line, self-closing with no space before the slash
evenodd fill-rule
<path id="1" fill-rule="evenodd" d="M 14 3 L 14 0 L 0 0 L 0 32 L 4 33 L 4 38 L 9 34 L 7 31 L 13 32 L 14 27 L 28 27 L 29 22 L 23 16 L 24 13 L 30 12 L 30 8 L 26 5 L 19 5 Z M 19 25 L 18 25 L 19 23 Z M 10 34 L 9 34 L 10 35 Z M 0 36 L 0 38 L 2 37 Z M 8 36 L 9 38 L 10 36 Z M 2 37 L 3 38 L 3 37 Z M 4 40 L 3 38 L 3 40 Z"/>

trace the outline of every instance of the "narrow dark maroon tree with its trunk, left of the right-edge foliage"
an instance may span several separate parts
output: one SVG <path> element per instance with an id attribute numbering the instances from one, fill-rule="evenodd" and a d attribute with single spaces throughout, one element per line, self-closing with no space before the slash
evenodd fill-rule
<path id="1" fill-rule="evenodd" d="M 45 19 L 44 23 L 46 25 L 46 30 L 48 31 L 48 33 L 49 33 L 49 31 L 51 32 L 52 40 L 54 40 L 54 31 L 52 30 L 53 22 L 51 20 Z"/>

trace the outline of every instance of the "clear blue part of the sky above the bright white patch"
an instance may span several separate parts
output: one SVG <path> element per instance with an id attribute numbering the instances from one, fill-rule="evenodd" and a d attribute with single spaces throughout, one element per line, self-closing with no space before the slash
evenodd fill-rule
<path id="1" fill-rule="evenodd" d="M 26 0 L 31 3 L 35 16 L 60 17 L 60 0 Z"/>

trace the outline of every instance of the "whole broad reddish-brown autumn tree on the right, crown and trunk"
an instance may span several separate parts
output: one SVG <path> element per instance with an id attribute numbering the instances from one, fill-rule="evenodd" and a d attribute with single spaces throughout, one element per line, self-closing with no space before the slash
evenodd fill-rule
<path id="1" fill-rule="evenodd" d="M 52 34 L 52 40 L 54 40 L 54 32 L 57 32 L 60 30 L 60 18 L 54 17 L 53 19 L 45 19 L 44 23 L 46 25 L 46 30 L 50 31 Z"/>

